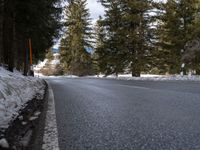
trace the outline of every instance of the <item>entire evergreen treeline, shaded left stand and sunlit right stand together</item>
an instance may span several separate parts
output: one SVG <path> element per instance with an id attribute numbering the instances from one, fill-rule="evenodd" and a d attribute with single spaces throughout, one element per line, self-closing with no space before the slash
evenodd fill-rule
<path id="1" fill-rule="evenodd" d="M 199 0 L 99 0 L 95 26 L 87 0 L 0 0 L 0 64 L 27 74 L 61 40 L 63 72 L 74 75 L 200 74 Z M 64 11 L 64 23 L 61 21 Z"/>

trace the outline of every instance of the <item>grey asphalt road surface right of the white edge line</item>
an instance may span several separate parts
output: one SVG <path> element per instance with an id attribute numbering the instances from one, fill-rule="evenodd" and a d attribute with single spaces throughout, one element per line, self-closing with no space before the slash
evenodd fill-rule
<path id="1" fill-rule="evenodd" d="M 53 78 L 60 150 L 200 150 L 200 83 Z"/>

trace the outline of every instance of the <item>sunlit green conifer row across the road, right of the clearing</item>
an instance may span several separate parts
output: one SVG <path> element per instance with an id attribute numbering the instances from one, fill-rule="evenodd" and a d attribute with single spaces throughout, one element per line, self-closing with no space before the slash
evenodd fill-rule
<path id="1" fill-rule="evenodd" d="M 93 28 L 86 0 L 65 7 L 60 46 L 65 73 L 200 74 L 199 0 L 99 2 L 105 15 Z"/>

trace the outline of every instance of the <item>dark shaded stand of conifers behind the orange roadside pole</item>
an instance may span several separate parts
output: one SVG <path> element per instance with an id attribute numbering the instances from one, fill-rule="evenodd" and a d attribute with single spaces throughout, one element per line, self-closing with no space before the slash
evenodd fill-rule
<path id="1" fill-rule="evenodd" d="M 61 0 L 0 0 L 0 64 L 26 75 L 29 41 L 37 62 L 59 36 L 61 13 Z"/>

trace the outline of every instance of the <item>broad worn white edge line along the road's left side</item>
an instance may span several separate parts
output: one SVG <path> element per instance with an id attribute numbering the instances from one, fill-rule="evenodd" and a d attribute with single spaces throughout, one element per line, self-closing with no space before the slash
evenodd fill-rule
<path id="1" fill-rule="evenodd" d="M 43 136 L 43 150 L 59 150 L 55 102 L 51 86 L 48 84 L 48 108 Z"/>

